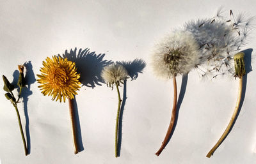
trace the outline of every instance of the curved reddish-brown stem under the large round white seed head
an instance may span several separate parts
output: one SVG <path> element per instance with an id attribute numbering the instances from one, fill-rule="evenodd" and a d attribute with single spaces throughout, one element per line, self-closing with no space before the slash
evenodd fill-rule
<path id="1" fill-rule="evenodd" d="M 172 117 L 169 124 L 169 128 L 167 130 L 167 133 L 164 137 L 164 141 L 162 142 L 162 145 L 160 149 L 157 151 L 156 155 L 159 156 L 161 152 L 163 151 L 164 147 L 168 144 L 168 140 L 170 138 L 170 135 L 173 130 L 173 124 L 175 123 L 176 118 L 176 109 L 177 109 L 177 83 L 176 83 L 176 77 L 173 75 L 173 107 L 172 107 Z"/>

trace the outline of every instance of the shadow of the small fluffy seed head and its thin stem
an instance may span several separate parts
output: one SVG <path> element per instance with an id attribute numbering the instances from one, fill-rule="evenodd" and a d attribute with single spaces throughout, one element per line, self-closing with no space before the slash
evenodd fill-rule
<path id="1" fill-rule="evenodd" d="M 142 59 L 134 59 L 134 61 L 121 61 L 116 62 L 124 66 L 127 70 L 129 77 L 131 80 L 135 80 L 138 78 L 139 73 L 143 73 L 143 69 L 146 66 L 145 61 Z M 117 156 L 120 156 L 121 144 L 122 144 L 122 123 L 123 123 L 123 115 L 124 115 L 124 106 L 127 100 L 127 80 L 124 80 L 124 91 L 123 91 L 123 100 L 120 108 L 119 122 L 118 122 L 118 152 Z"/>

